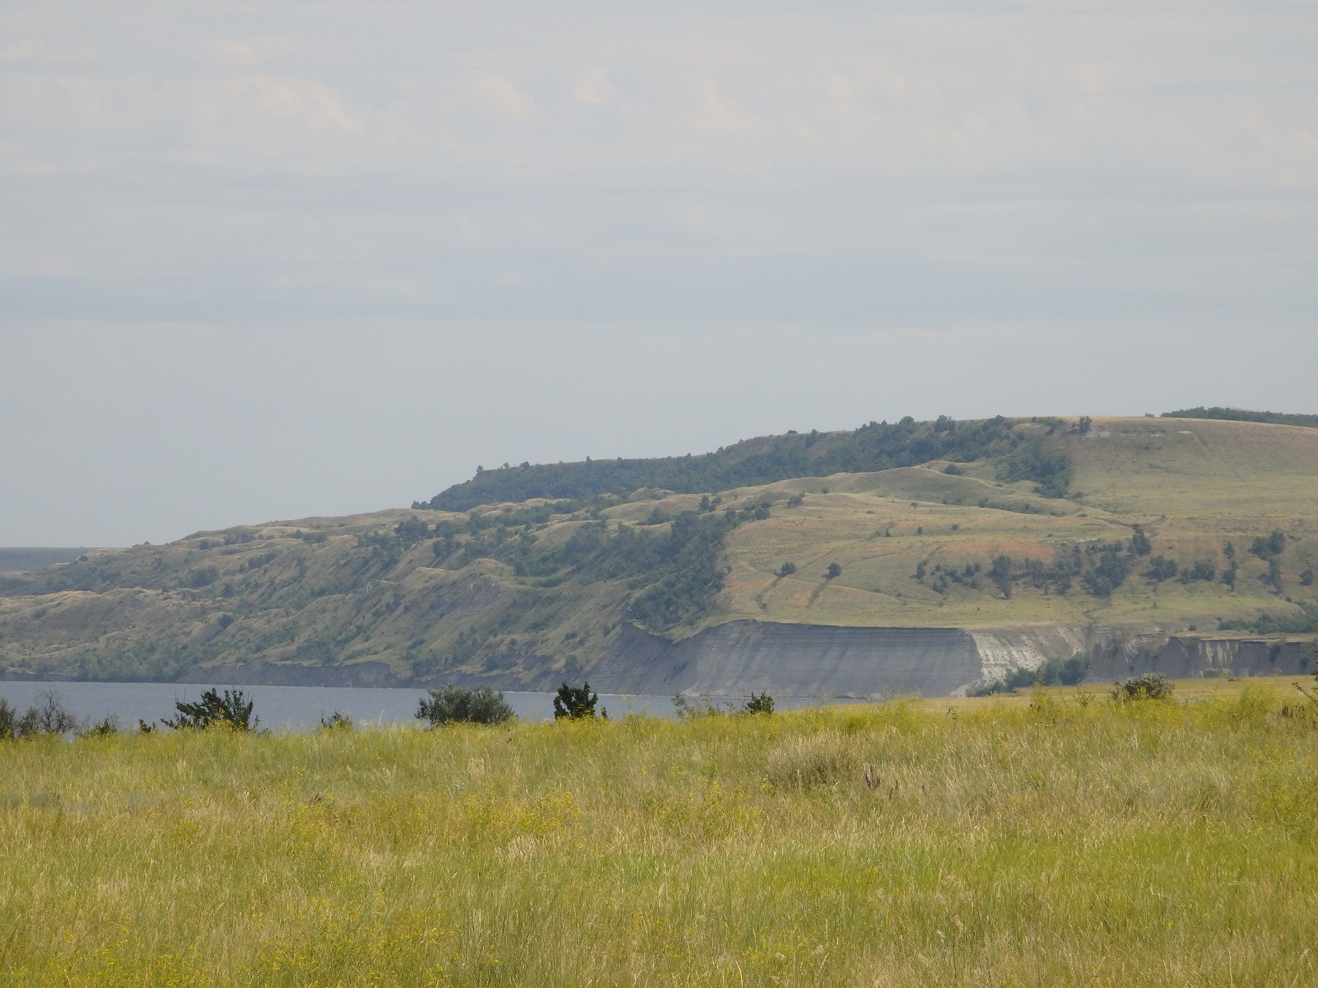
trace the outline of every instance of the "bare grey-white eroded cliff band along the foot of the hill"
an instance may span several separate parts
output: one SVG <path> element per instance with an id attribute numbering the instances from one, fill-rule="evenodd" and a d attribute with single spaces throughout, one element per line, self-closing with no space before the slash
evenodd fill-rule
<path id="1" fill-rule="evenodd" d="M 1318 642 L 1182 638 L 1152 628 L 892 628 L 779 624 L 733 620 L 681 642 L 626 626 L 604 660 L 581 671 L 602 693 L 706 697 L 883 700 L 900 696 L 963 697 L 1016 669 L 1049 659 L 1091 656 L 1089 682 L 1112 682 L 1143 672 L 1172 678 L 1277 676 L 1318 672 Z M 323 668 L 293 663 L 198 667 L 181 682 L 464 686 L 551 690 L 563 678 L 547 668 L 527 680 L 510 672 L 444 672 L 398 681 L 385 663 Z"/>

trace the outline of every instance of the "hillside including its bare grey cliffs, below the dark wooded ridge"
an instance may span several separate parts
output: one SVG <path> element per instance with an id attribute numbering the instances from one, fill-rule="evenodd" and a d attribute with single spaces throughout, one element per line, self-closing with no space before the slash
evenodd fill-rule
<path id="1" fill-rule="evenodd" d="M 975 423 L 954 440 L 956 423 L 916 423 L 902 443 L 896 427 L 866 427 L 808 447 L 834 458 L 913 456 L 925 441 L 992 453 L 970 462 L 312 518 L 91 551 L 0 577 L 0 667 L 503 688 L 589 676 L 623 692 L 796 696 L 946 693 L 1078 651 L 1101 678 L 1218 668 L 1232 649 L 1232 671 L 1290 651 L 1302 668 L 1302 644 L 1273 652 L 1285 638 L 1273 636 L 1260 652 L 1230 644 L 1257 635 L 1217 628 L 1304 619 L 1301 605 L 1318 603 L 1318 431 L 1002 427 Z M 760 447 L 779 439 L 811 437 Z"/>

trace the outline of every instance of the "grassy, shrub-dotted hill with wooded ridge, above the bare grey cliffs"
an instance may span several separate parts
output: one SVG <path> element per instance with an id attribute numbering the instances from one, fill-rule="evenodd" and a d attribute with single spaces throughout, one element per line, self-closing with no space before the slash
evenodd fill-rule
<path id="1" fill-rule="evenodd" d="M 903 420 L 507 466 L 411 510 L 0 576 L 0 665 L 525 678 L 588 672 L 629 622 L 681 638 L 734 618 L 1318 631 L 1315 490 L 1318 429 L 1199 418 Z"/>

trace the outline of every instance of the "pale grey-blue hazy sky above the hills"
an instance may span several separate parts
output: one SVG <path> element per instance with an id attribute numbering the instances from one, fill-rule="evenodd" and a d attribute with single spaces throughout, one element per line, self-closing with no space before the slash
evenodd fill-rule
<path id="1" fill-rule="evenodd" d="M 11 3 L 0 544 L 1318 412 L 1315 3 Z"/>

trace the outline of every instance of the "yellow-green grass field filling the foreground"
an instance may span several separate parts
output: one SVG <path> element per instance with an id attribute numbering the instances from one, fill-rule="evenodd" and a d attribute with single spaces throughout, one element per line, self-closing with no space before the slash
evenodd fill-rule
<path id="1" fill-rule="evenodd" d="M 1315 721 L 1286 682 L 1194 685 L 3 743 L 0 971 L 1318 984 Z"/>

